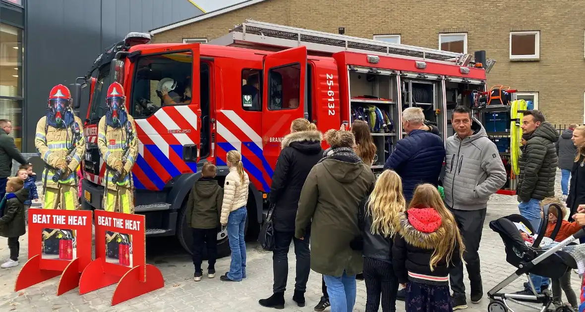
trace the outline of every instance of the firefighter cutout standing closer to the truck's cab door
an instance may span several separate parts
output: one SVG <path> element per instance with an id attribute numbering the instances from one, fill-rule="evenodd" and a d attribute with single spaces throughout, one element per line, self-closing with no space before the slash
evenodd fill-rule
<path id="1" fill-rule="evenodd" d="M 122 85 L 113 82 L 106 95 L 106 115 L 99 120 L 98 147 L 106 163 L 104 210 L 134 213 L 132 166 L 138 154 L 138 140 L 125 102 Z"/>

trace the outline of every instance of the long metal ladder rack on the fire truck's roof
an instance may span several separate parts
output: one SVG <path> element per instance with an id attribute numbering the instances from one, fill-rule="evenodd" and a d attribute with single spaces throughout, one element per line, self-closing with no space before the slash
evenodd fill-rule
<path id="1" fill-rule="evenodd" d="M 363 39 L 342 34 L 318 32 L 297 27 L 283 26 L 271 23 L 258 22 L 247 19 L 241 25 L 236 25 L 229 34 L 212 40 L 210 44 L 236 47 L 298 47 L 307 46 L 309 51 L 322 53 L 336 53 L 352 51 L 357 53 L 374 54 L 380 56 L 418 57 L 422 59 L 455 61 L 463 65 L 469 54 L 441 51 L 432 48 L 408 46 L 406 44 L 387 43 L 371 39 Z"/>

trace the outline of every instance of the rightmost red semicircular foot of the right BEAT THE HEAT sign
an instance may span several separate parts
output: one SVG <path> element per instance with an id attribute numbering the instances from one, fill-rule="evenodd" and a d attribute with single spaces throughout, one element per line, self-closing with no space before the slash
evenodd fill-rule
<path id="1" fill-rule="evenodd" d="M 151 264 L 146 265 L 146 280 L 140 282 L 140 266 L 135 266 L 120 279 L 112 296 L 112 306 L 164 287 L 163 273 Z"/>

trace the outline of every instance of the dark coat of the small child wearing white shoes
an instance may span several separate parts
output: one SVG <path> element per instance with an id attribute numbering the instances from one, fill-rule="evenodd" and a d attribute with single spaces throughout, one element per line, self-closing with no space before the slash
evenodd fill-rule
<path id="1" fill-rule="evenodd" d="M 8 196 L 8 193 L 6 193 Z M 26 234 L 25 200 L 29 198 L 29 190 L 19 189 L 9 196 L 4 204 L 2 218 L 0 218 L 0 236 L 19 237 Z"/>

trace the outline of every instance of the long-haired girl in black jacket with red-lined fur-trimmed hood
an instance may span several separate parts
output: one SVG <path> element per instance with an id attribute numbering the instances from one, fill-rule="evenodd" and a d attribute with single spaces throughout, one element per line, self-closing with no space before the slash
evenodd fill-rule
<path id="1" fill-rule="evenodd" d="M 453 311 L 449 271 L 462 261 L 464 247 L 436 186 L 417 186 L 407 211 L 395 222 L 392 265 L 406 288 L 406 311 Z"/>

